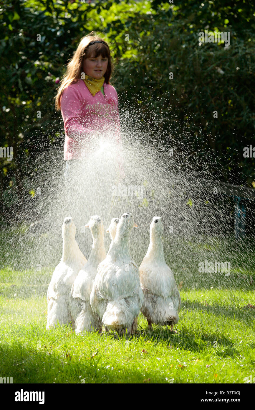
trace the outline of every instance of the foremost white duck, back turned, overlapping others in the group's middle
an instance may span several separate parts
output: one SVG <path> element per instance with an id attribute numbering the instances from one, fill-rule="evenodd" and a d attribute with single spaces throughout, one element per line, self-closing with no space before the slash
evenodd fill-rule
<path id="1" fill-rule="evenodd" d="M 107 329 L 134 333 L 143 302 L 138 266 L 129 251 L 133 216 L 123 214 L 106 259 L 97 268 L 90 305 Z"/>

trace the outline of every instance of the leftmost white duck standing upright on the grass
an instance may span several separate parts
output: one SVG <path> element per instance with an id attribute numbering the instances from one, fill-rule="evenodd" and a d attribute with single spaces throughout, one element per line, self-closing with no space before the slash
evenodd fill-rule
<path id="1" fill-rule="evenodd" d="M 62 225 L 63 251 L 62 258 L 56 266 L 47 290 L 47 326 L 49 329 L 70 322 L 68 297 L 74 279 L 81 267 L 87 262 L 75 240 L 76 228 L 71 216 L 64 219 Z"/>

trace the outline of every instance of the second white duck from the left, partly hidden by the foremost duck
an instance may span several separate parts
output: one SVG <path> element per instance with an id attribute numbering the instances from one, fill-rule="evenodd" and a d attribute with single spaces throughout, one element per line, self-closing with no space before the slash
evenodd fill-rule
<path id="1" fill-rule="evenodd" d="M 70 292 L 70 311 L 72 321 L 75 321 L 75 332 L 85 333 L 91 330 L 101 330 L 102 323 L 97 313 L 93 312 L 90 306 L 90 293 L 93 279 L 97 273 L 97 266 L 106 257 L 104 248 L 104 225 L 100 216 L 91 216 L 90 221 L 85 225 L 90 228 L 93 244 L 88 258 L 88 262 L 79 271 L 74 280 Z"/>

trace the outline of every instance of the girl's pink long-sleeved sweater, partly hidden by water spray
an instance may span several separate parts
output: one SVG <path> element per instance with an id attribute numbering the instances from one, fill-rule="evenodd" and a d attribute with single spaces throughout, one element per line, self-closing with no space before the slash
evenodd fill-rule
<path id="1" fill-rule="evenodd" d="M 90 93 L 83 80 L 66 87 L 61 96 L 64 121 L 64 159 L 80 159 L 95 133 L 111 135 L 120 141 L 120 117 L 115 88 L 104 82 L 104 96 Z M 84 144 L 85 143 L 85 144 Z"/>

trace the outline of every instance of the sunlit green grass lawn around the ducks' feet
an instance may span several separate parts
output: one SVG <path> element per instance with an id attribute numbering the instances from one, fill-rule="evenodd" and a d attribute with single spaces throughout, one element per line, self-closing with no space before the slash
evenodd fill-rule
<path id="1" fill-rule="evenodd" d="M 252 260 L 250 247 L 239 249 L 239 257 L 232 252 L 230 276 L 212 277 L 199 275 L 194 261 L 209 260 L 217 245 L 189 240 L 183 246 L 193 248 L 195 259 L 178 265 L 178 255 L 171 255 L 182 300 L 173 333 L 149 331 L 142 314 L 133 337 L 76 335 L 69 326 L 46 331 L 52 271 L 6 265 L 0 270 L 0 376 L 13 383 L 244 383 L 255 377 L 255 309 L 245 307 L 255 305 L 255 269 L 239 266 Z"/>

